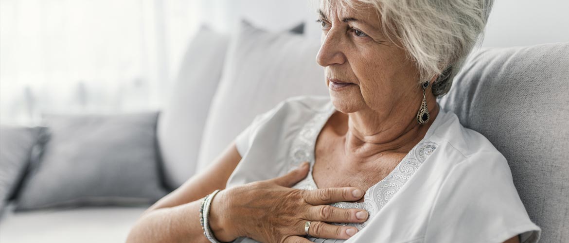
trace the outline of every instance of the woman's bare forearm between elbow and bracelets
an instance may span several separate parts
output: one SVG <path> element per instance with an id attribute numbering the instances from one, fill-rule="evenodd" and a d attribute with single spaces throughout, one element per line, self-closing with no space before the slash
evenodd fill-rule
<path id="1" fill-rule="evenodd" d="M 201 199 L 145 213 L 126 242 L 209 242 L 200 225 Z"/>

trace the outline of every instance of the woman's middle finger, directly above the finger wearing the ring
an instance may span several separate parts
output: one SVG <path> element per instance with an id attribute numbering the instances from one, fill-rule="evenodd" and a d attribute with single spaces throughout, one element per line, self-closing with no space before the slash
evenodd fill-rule
<path id="1" fill-rule="evenodd" d="M 368 212 L 356 208 L 337 208 L 331 205 L 318 205 L 308 208 L 304 217 L 308 220 L 335 222 L 335 223 L 361 223 L 368 219 Z"/>

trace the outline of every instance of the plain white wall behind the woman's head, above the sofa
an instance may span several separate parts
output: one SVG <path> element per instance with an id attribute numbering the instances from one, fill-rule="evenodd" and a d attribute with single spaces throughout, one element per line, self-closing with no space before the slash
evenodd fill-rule
<path id="1" fill-rule="evenodd" d="M 318 0 L 201 0 L 207 22 L 231 31 L 238 19 L 249 18 L 257 26 L 283 30 L 305 20 L 307 35 L 319 39 L 316 19 Z M 484 47 L 527 46 L 569 42 L 569 0 L 495 0 L 486 27 Z"/>

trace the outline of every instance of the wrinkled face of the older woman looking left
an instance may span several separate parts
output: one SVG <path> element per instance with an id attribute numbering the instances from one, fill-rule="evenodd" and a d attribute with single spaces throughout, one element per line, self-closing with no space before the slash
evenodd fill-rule
<path id="1" fill-rule="evenodd" d="M 405 50 L 397 47 L 401 44 L 396 46 L 383 34 L 372 7 L 354 10 L 336 4 L 325 11 L 321 5 L 320 13 L 322 36 L 316 61 L 324 67 L 337 110 L 371 109 L 385 117 L 396 109 L 418 109 L 419 72 Z M 352 84 L 334 89 L 334 79 Z"/>

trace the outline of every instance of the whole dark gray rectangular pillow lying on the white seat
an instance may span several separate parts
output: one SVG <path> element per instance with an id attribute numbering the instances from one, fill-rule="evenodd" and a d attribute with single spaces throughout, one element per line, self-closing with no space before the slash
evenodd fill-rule
<path id="1" fill-rule="evenodd" d="M 156 149 L 158 113 L 44 116 L 47 142 L 15 211 L 151 204 L 166 195 Z"/>

